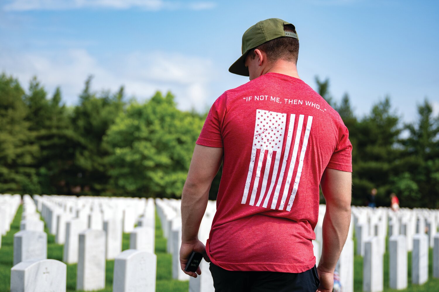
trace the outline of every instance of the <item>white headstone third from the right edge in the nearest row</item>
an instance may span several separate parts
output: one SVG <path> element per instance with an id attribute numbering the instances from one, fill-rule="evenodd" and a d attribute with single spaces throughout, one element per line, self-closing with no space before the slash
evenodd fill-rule
<path id="1" fill-rule="evenodd" d="M 390 288 L 397 290 L 407 288 L 405 235 L 394 235 L 389 238 L 389 285 Z"/>

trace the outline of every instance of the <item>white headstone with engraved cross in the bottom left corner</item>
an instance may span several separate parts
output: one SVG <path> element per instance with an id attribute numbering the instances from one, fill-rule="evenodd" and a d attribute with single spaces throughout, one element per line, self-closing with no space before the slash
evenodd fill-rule
<path id="1" fill-rule="evenodd" d="M 58 260 L 26 260 L 11 268 L 11 292 L 65 292 L 67 266 Z"/>

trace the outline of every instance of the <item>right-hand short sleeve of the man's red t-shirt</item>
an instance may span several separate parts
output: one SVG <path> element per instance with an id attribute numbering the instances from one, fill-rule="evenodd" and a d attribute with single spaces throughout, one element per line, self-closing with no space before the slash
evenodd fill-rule
<path id="1" fill-rule="evenodd" d="M 352 172 L 352 144 L 344 124 L 338 128 L 338 144 L 327 165 L 328 168 Z"/>

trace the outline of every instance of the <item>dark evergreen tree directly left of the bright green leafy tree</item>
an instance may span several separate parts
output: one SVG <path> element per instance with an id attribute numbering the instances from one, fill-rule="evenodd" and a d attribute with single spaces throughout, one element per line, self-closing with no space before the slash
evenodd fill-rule
<path id="1" fill-rule="evenodd" d="M 73 110 L 73 128 L 80 139 L 71 166 L 76 175 L 67 183 L 72 192 L 102 195 L 108 192 L 107 156 L 111 153 L 103 137 L 125 103 L 123 87 L 113 95 L 108 91 L 98 95 L 91 91 L 92 78 L 87 78 L 79 105 Z"/>

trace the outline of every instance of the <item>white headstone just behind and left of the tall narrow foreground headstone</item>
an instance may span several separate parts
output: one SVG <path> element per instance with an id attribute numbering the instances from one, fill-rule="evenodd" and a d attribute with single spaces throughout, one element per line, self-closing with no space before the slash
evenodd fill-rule
<path id="1" fill-rule="evenodd" d="M 78 262 L 78 245 L 79 233 L 86 230 L 86 222 L 74 218 L 66 222 L 65 244 L 62 261 L 67 264 L 76 264 Z"/>

